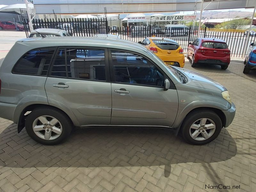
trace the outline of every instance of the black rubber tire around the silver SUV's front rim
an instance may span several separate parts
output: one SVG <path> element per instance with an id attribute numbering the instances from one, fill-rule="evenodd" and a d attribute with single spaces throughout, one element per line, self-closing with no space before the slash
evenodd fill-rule
<path id="1" fill-rule="evenodd" d="M 206 139 L 206 140 L 195 140 L 193 139 L 189 132 L 190 132 L 190 126 L 198 119 L 201 118 L 208 118 L 211 119 L 215 124 L 215 132 L 213 135 Z M 182 137 L 190 144 L 193 145 L 205 145 L 207 143 L 210 143 L 211 141 L 215 140 L 218 135 L 220 134 L 222 128 L 222 122 L 220 120 L 220 117 L 214 113 L 211 110 L 195 110 L 189 113 L 186 118 L 184 119 L 182 125 L 181 125 L 181 134 Z M 196 130 L 197 131 L 197 130 Z M 204 131 L 204 130 L 203 130 Z"/>

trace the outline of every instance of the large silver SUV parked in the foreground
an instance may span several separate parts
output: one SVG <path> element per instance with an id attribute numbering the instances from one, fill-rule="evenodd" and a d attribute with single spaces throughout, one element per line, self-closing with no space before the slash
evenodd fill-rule
<path id="1" fill-rule="evenodd" d="M 1 60 L 0 79 L 0 117 L 47 145 L 91 125 L 168 128 L 202 145 L 236 111 L 219 83 L 120 39 L 22 39 Z"/>

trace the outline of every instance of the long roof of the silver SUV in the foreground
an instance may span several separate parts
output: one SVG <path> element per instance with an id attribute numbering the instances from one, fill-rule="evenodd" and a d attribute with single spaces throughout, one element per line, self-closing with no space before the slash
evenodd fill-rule
<path id="1" fill-rule="evenodd" d="M 93 44 L 93 46 L 101 46 L 101 47 L 113 47 L 109 46 L 114 45 L 116 47 L 118 46 L 124 46 L 124 47 L 133 47 L 140 49 L 142 51 L 147 52 L 147 48 L 144 47 L 143 45 L 140 45 L 138 43 L 124 40 L 124 39 L 113 39 L 113 38 L 97 38 L 97 37 L 74 37 L 74 36 L 65 36 L 65 37 L 36 37 L 36 38 L 25 38 L 25 39 L 20 39 L 17 42 L 42 42 L 46 43 L 49 42 L 51 43 L 52 46 L 67 46 L 67 44 L 79 44 L 84 43 L 84 46 L 88 46 L 86 44 Z M 54 44 L 56 42 L 56 44 Z M 74 46 L 74 45 L 72 45 Z"/>

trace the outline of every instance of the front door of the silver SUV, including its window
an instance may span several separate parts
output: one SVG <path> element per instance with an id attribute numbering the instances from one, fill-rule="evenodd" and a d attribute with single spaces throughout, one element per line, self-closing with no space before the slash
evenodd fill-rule
<path id="1" fill-rule="evenodd" d="M 167 77 L 146 57 L 110 50 L 111 125 L 172 126 L 178 111 L 174 87 L 164 91 Z"/>

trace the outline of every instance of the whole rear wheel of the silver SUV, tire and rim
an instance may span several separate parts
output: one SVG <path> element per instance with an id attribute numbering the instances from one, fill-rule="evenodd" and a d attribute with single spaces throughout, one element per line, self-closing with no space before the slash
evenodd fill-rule
<path id="1" fill-rule="evenodd" d="M 68 138 L 72 130 L 69 117 L 53 108 L 33 110 L 25 121 L 28 135 L 38 143 L 55 145 Z"/>

